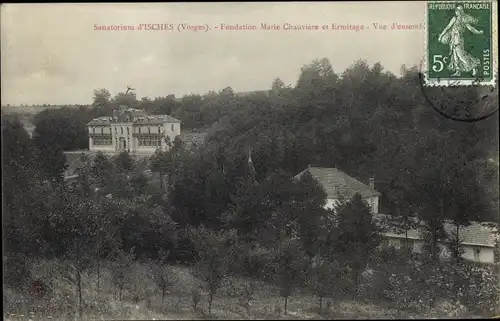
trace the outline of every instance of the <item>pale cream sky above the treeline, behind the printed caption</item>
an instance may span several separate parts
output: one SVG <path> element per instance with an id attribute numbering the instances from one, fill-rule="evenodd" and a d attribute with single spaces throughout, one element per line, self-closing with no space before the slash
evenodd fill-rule
<path id="1" fill-rule="evenodd" d="M 94 89 L 114 96 L 127 85 L 138 98 L 227 86 L 263 90 L 276 77 L 293 86 L 304 64 L 323 57 L 337 73 L 364 59 L 399 74 L 403 64 L 420 64 L 425 31 L 391 26 L 423 24 L 424 10 L 417 1 L 2 4 L 2 105 L 90 104 Z M 221 23 L 257 30 L 216 29 Z M 281 30 L 261 30 L 261 23 Z M 283 30 L 285 23 L 320 30 Z M 173 24 L 174 30 L 138 30 L 139 24 Z M 179 24 L 210 30 L 179 31 Z M 332 30 L 332 24 L 365 30 Z M 135 30 L 95 30 L 110 25 Z"/>

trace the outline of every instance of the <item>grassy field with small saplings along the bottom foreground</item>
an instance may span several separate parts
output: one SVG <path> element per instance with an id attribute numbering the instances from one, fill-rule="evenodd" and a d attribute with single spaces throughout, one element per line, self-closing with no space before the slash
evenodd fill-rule
<path id="1" fill-rule="evenodd" d="M 25 295 L 26 289 L 4 290 L 5 320 L 77 320 L 75 286 L 67 281 L 61 269 L 62 264 L 54 261 L 38 262 L 33 276 L 42 278 L 49 284 L 50 291 L 45 298 L 33 299 Z M 252 281 L 256 290 L 247 310 L 239 304 L 238 297 L 230 288 L 222 288 L 214 297 L 212 313 L 208 314 L 207 295 L 203 294 L 198 311 L 193 309 L 192 290 L 198 286 L 187 267 L 172 267 L 176 276 L 175 284 L 170 287 L 162 303 L 161 293 L 155 288 L 152 276 L 145 265 L 135 263 L 133 279 L 118 299 L 108 269 L 103 269 L 100 289 L 97 289 L 96 274 L 86 274 L 83 286 L 83 320 L 170 320 L 170 319 L 396 319 L 396 318 L 437 318 L 446 317 L 438 311 L 425 316 L 400 313 L 387 307 L 359 302 L 323 301 L 323 311 L 319 311 L 319 301 L 307 293 L 296 292 L 288 300 L 288 309 L 283 311 L 283 298 L 279 291 L 263 282 Z M 234 278 L 231 284 L 238 286 L 251 280 Z"/>

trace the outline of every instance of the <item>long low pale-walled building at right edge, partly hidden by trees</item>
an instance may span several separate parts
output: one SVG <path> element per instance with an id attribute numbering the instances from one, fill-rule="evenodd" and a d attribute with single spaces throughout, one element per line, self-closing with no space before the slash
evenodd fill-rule
<path id="1" fill-rule="evenodd" d="M 378 214 L 375 219 L 384 217 L 386 215 Z M 472 222 L 469 226 L 459 228 L 460 244 L 464 251 L 462 254 L 463 259 L 478 263 L 495 263 L 496 228 L 492 227 L 493 225 L 487 222 Z M 445 222 L 444 229 L 447 235 L 453 235 L 456 232 L 456 226 L 451 222 Z M 384 237 L 385 246 L 392 246 L 396 249 L 404 247 L 404 233 L 385 232 Z M 422 246 L 424 245 L 423 229 L 408 230 L 408 242 L 413 253 L 422 253 Z M 449 240 L 440 240 L 438 247 L 441 259 L 446 260 L 452 257 Z"/>

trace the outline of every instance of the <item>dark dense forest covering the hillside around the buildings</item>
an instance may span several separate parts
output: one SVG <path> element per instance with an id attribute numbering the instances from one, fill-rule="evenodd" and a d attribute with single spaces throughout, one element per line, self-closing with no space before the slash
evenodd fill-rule
<path id="1" fill-rule="evenodd" d="M 450 96 L 431 88 L 427 95 L 473 105 L 480 93 L 467 87 Z M 498 115 L 469 123 L 443 117 L 424 99 L 417 67 L 402 66 L 396 76 L 360 60 L 336 73 L 322 58 L 303 66 L 293 86 L 276 78 L 267 91 L 226 87 L 138 100 L 96 89 L 93 101 L 90 108 L 37 114 L 33 139 L 2 115 L 4 260 L 14 287 L 25 282 L 29 258 L 65 260 L 77 289 L 81 275 L 105 261 L 117 264 L 122 289 L 126 262 L 152 260 L 190 266 L 210 307 L 225 278 L 236 274 L 277 283 L 285 310 L 297 287 L 320 299 L 383 298 L 425 310 L 439 297 L 455 299 L 463 282 L 481 279 L 471 275 L 486 273 L 458 262 L 459 255 L 436 268 L 436 242 L 450 237 L 444 220 L 466 226 L 498 219 Z M 63 151 L 88 148 L 86 124 L 121 105 L 171 115 L 182 131 L 208 135 L 196 148 L 176 139 L 147 164 L 126 153 L 98 154 L 82 160 L 75 184 L 65 184 Z M 425 223 L 429 257 L 380 250 L 381 230 L 359 196 L 335 214 L 325 210 L 318 182 L 293 179 L 308 165 L 337 167 L 365 183 L 374 177 L 391 226 L 409 228 L 417 217 Z M 165 184 L 153 183 L 147 168 Z M 391 264 L 395 257 L 399 263 Z M 393 273 L 408 265 L 426 285 L 404 283 L 407 268 Z M 382 271 L 384 286 L 362 290 L 367 267 Z M 439 283 L 443 275 L 455 278 L 448 288 Z M 476 309 L 481 297 L 481 309 L 490 311 L 498 291 L 477 282 L 479 290 L 458 301 Z"/>

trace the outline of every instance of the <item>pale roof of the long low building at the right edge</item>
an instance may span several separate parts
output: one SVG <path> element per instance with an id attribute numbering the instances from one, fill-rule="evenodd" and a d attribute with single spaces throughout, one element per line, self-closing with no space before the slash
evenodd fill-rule
<path id="1" fill-rule="evenodd" d="M 388 215 L 376 214 L 376 219 L 388 217 Z M 471 222 L 469 226 L 461 226 L 459 229 L 459 238 L 464 245 L 476 245 L 484 247 L 494 247 L 496 239 L 496 228 L 490 222 Z M 444 229 L 448 235 L 456 232 L 456 226 L 451 222 L 444 223 Z M 414 240 L 423 240 L 422 228 L 408 230 L 408 238 Z M 404 238 L 404 233 L 386 232 L 385 236 L 393 238 Z"/>

